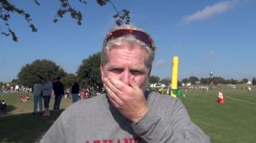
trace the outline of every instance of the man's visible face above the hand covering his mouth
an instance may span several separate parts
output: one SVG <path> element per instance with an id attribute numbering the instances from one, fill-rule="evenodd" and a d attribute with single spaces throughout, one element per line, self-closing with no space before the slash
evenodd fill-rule
<path id="1" fill-rule="evenodd" d="M 145 50 L 138 45 L 124 43 L 120 47 L 113 48 L 108 54 L 108 63 L 100 66 L 102 81 L 104 77 L 114 77 L 126 85 L 130 85 L 130 78 L 134 78 L 144 92 L 150 74 L 145 60 Z"/>

